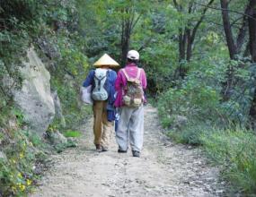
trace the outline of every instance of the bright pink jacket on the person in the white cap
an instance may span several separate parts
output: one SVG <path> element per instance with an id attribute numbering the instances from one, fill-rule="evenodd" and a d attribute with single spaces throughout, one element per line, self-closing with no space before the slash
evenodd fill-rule
<path id="1" fill-rule="evenodd" d="M 126 72 L 128 73 L 128 76 L 131 78 L 136 78 L 137 77 L 137 65 L 130 63 L 127 64 L 125 67 Z M 141 73 L 140 73 L 140 81 L 142 84 L 142 87 L 144 90 L 146 90 L 146 73 L 145 71 L 141 68 Z M 118 73 L 118 78 L 115 82 L 115 90 L 117 91 L 117 98 L 115 100 L 115 107 L 122 107 L 123 104 L 123 87 L 127 85 L 127 78 L 125 74 L 120 70 Z M 146 102 L 146 99 L 144 100 Z"/>

